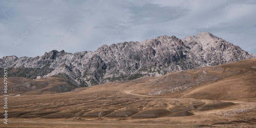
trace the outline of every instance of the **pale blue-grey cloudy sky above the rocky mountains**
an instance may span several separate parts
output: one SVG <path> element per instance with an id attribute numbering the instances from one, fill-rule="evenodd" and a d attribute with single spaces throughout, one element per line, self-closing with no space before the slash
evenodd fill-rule
<path id="1" fill-rule="evenodd" d="M 254 0 L 5 0 L 0 9 L 0 58 L 200 32 L 256 54 Z"/>

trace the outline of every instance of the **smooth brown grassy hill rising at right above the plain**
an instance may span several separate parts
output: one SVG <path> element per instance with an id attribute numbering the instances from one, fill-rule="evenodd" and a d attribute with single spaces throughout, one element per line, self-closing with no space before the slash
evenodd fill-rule
<path id="1" fill-rule="evenodd" d="M 256 58 L 172 72 L 132 88 L 132 93 L 142 95 L 255 102 Z"/>

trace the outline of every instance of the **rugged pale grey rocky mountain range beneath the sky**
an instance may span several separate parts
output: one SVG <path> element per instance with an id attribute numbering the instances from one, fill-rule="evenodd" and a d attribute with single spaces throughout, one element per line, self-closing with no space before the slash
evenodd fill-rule
<path id="1" fill-rule="evenodd" d="M 239 46 L 202 32 L 185 39 L 161 36 L 143 42 L 103 45 L 94 52 L 71 54 L 52 50 L 37 57 L 7 56 L 0 59 L 0 70 L 8 67 L 12 77 L 35 79 L 65 73 L 79 87 L 86 87 L 255 57 Z"/>

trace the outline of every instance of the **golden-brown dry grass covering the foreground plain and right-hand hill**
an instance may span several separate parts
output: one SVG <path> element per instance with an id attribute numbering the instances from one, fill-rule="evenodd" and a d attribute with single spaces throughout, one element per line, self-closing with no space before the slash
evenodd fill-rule
<path id="1" fill-rule="evenodd" d="M 9 124 L 0 127 L 255 127 L 255 64 L 249 59 L 66 93 L 10 96 Z M 197 84 L 148 95 L 170 90 L 180 77 Z"/>

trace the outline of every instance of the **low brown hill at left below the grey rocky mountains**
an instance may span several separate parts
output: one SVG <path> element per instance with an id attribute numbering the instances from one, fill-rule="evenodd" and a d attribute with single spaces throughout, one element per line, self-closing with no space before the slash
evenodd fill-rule
<path id="1" fill-rule="evenodd" d="M 4 81 L 4 78 L 0 78 Z M 32 80 L 31 78 L 8 77 L 8 94 L 12 95 L 39 95 L 69 92 L 79 86 L 65 73 L 51 77 Z M 0 87 L 4 90 L 4 86 Z M 0 92 L 0 94 L 6 94 Z"/>

